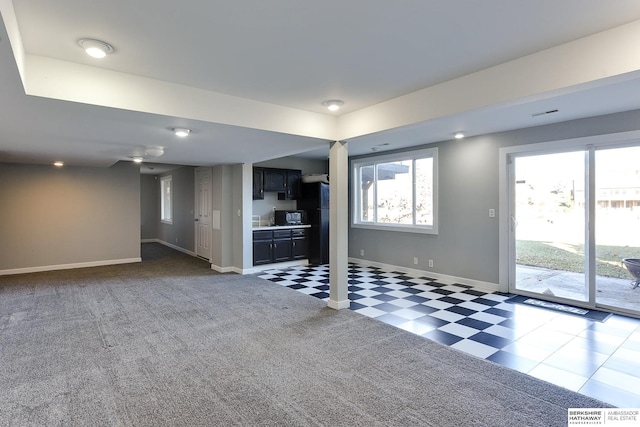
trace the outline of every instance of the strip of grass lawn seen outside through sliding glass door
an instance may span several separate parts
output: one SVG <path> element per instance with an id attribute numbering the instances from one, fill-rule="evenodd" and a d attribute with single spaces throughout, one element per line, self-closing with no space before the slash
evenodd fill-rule
<path id="1" fill-rule="evenodd" d="M 516 263 L 520 265 L 584 273 L 584 245 L 518 240 L 516 253 Z M 622 265 L 623 258 L 640 258 L 640 248 L 596 246 L 596 274 L 633 279 Z"/>

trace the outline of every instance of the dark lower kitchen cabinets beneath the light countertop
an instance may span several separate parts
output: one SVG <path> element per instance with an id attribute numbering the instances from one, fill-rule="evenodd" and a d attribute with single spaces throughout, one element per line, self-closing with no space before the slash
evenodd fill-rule
<path id="1" fill-rule="evenodd" d="M 306 229 L 260 230 L 253 232 L 253 265 L 307 258 Z"/>

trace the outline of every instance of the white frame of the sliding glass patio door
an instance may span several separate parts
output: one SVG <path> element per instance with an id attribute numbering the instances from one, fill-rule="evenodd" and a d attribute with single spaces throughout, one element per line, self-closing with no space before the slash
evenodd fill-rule
<path id="1" fill-rule="evenodd" d="M 587 309 L 638 316 L 635 311 L 597 304 L 596 302 L 596 241 L 595 241 L 595 152 L 604 148 L 622 148 L 640 145 L 640 131 L 621 132 L 561 141 L 503 147 L 499 149 L 499 289 L 503 292 L 545 299 Z M 515 157 L 585 151 L 585 280 L 586 301 L 541 295 L 516 289 L 515 273 Z M 591 238 L 593 236 L 594 238 Z"/>

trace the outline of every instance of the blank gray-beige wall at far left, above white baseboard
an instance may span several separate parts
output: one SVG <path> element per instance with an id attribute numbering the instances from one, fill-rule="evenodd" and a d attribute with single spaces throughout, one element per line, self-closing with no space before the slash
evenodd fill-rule
<path id="1" fill-rule="evenodd" d="M 0 270 L 140 257 L 140 168 L 0 165 Z"/>

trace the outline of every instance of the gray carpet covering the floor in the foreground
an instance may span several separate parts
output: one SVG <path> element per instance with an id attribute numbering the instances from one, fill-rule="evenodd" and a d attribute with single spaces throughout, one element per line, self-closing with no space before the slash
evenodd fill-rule
<path id="1" fill-rule="evenodd" d="M 2 426 L 565 426 L 610 405 L 157 244 L 0 277 Z"/>

